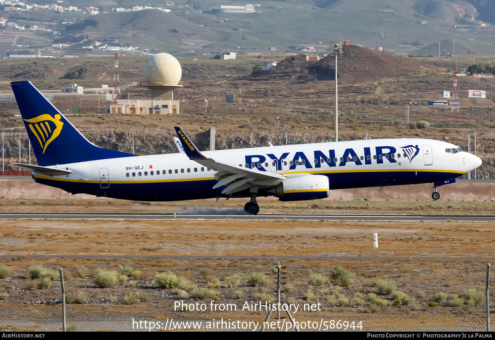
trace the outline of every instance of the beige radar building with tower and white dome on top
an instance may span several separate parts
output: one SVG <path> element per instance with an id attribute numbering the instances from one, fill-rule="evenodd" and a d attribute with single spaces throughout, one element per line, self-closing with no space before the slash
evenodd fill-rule
<path id="1" fill-rule="evenodd" d="M 151 90 L 150 98 L 117 99 L 116 104 L 105 106 L 105 113 L 179 113 L 179 100 L 174 99 L 174 89 L 184 87 L 179 61 L 168 53 L 154 54 L 146 62 L 144 78 L 139 86 Z"/>

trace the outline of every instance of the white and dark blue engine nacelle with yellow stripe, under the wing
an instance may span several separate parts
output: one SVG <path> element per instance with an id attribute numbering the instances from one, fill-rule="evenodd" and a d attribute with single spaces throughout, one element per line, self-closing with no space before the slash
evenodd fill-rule
<path id="1" fill-rule="evenodd" d="M 277 189 L 281 201 L 299 201 L 327 198 L 330 184 L 327 176 L 307 175 L 288 178 Z"/>

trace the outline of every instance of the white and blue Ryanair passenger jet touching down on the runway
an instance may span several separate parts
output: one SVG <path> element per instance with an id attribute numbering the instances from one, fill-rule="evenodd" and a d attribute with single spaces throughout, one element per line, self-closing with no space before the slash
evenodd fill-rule
<path id="1" fill-rule="evenodd" d="M 282 201 L 326 198 L 333 189 L 434 183 L 478 168 L 481 159 L 458 146 L 428 139 L 377 139 L 337 143 L 199 151 L 180 127 L 184 152 L 138 156 L 89 142 L 31 82 L 11 83 L 38 165 L 37 183 L 72 194 L 146 201 L 249 197 Z"/>

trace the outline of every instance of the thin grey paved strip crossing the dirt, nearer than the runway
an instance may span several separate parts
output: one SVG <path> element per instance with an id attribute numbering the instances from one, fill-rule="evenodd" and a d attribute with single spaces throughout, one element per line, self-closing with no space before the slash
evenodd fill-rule
<path id="1" fill-rule="evenodd" d="M 288 259 L 288 260 L 412 260 L 412 261 L 495 261 L 495 257 L 438 257 L 438 256 L 250 256 L 250 255 L 49 255 L 49 254 L 33 254 L 33 255 L 0 255 L 0 258 L 182 258 L 182 259 L 256 259 L 256 260 L 272 260 Z"/>

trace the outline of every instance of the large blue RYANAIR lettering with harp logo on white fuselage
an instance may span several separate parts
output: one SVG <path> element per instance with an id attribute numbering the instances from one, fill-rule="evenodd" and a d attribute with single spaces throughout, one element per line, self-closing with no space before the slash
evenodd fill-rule
<path id="1" fill-rule="evenodd" d="M 416 157 L 419 153 L 420 148 L 415 145 L 407 145 L 407 146 L 401 146 L 400 147 L 401 153 L 404 153 L 405 157 L 407 160 L 409 160 L 409 163 Z M 348 162 L 352 162 L 355 165 L 363 165 L 364 164 L 371 164 L 371 148 L 370 147 L 364 147 L 364 156 L 361 158 L 360 156 L 357 155 L 357 153 L 354 151 L 353 148 L 347 148 L 344 151 L 344 154 L 338 159 L 335 155 L 335 149 L 333 150 L 328 150 L 328 153 L 325 153 L 321 150 L 315 150 L 313 151 L 313 156 L 315 159 L 314 167 L 315 168 L 321 168 L 323 163 L 328 164 L 330 167 L 334 166 L 345 166 Z M 382 164 L 384 162 L 384 159 L 388 160 L 391 163 L 396 163 L 397 160 L 395 158 L 395 154 L 397 152 L 396 147 L 394 146 L 375 146 L 375 154 L 376 154 L 376 163 L 377 164 Z M 267 153 L 266 155 L 269 157 L 269 160 L 275 160 L 277 161 L 277 169 L 282 168 L 282 160 L 287 159 L 287 156 L 289 156 L 290 152 L 284 152 L 280 157 L 275 156 L 273 153 Z M 246 164 L 249 166 L 251 164 L 254 164 L 254 166 L 260 170 L 260 171 L 267 171 L 264 168 L 264 162 L 267 160 L 267 158 L 264 155 L 247 155 L 245 156 L 246 158 Z M 337 164 L 338 163 L 338 164 Z M 306 169 L 312 169 L 313 166 L 311 165 L 311 162 L 309 161 L 308 157 L 304 152 L 302 151 L 297 151 L 294 154 L 294 157 L 292 159 L 292 162 L 290 163 L 289 170 L 294 170 L 296 169 L 297 165 L 304 165 Z"/>

